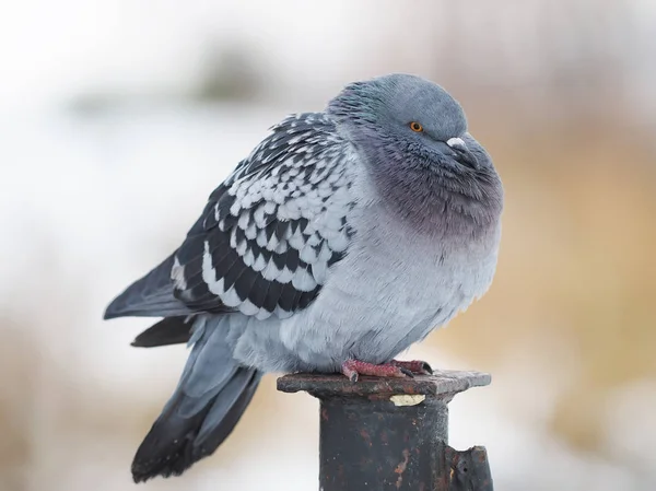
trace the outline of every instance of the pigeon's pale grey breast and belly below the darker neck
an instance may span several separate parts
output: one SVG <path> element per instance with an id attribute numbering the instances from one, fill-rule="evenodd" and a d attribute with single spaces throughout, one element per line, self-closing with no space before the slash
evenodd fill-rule
<path id="1" fill-rule="evenodd" d="M 276 325 L 250 322 L 237 358 L 282 371 L 337 371 L 349 358 L 383 363 L 465 309 L 492 280 L 497 230 L 476 241 L 413 235 L 373 201 L 361 202 L 351 220 L 354 241 L 315 303 Z"/>

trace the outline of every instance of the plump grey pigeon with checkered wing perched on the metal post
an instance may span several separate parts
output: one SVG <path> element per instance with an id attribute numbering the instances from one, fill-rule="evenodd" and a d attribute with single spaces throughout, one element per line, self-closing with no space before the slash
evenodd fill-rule
<path id="1" fill-rule="evenodd" d="M 273 126 L 105 312 L 163 317 L 136 347 L 191 347 L 134 482 L 211 455 L 266 373 L 430 373 L 396 356 L 488 291 L 502 209 L 461 106 L 423 78 L 354 82 Z"/>

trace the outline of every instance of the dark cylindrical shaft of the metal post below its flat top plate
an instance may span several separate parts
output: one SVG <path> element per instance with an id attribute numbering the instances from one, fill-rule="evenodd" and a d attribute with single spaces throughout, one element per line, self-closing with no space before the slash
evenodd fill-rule
<path id="1" fill-rule="evenodd" d="M 446 402 L 397 407 L 389 399 L 321 400 L 323 491 L 432 490 L 447 437 Z"/>

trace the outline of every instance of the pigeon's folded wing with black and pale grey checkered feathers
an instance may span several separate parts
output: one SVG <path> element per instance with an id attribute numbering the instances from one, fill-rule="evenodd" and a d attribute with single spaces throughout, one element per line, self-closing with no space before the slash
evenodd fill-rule
<path id="1" fill-rule="evenodd" d="M 352 156 L 321 114 L 291 116 L 210 196 L 174 255 L 191 311 L 281 318 L 318 295 L 351 241 Z"/>

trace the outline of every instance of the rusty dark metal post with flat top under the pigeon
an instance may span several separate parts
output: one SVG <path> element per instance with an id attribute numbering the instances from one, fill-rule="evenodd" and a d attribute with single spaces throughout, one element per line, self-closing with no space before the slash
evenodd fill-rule
<path id="1" fill-rule="evenodd" d="M 320 491 L 492 491 L 485 448 L 448 446 L 453 397 L 490 384 L 478 372 L 440 371 L 415 378 L 294 374 L 283 393 L 320 400 Z"/>

